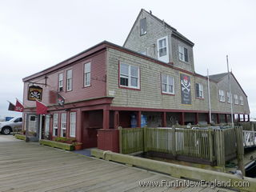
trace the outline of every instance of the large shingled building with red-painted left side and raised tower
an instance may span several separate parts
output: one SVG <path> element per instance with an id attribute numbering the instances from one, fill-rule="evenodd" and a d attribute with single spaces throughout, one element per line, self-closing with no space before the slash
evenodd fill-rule
<path id="1" fill-rule="evenodd" d="M 210 123 L 207 78 L 194 71 L 193 46 L 174 27 L 141 10 L 123 46 L 101 42 L 23 78 L 24 128 L 39 139 L 76 138 L 84 148 L 118 151 L 118 126 Z M 228 76 L 210 76 L 215 123 L 230 122 L 231 100 L 234 119 L 249 120 L 247 96 L 232 73 L 229 93 Z M 48 114 L 35 114 L 30 86 L 42 87 Z M 57 95 L 65 98 L 64 106 Z"/>

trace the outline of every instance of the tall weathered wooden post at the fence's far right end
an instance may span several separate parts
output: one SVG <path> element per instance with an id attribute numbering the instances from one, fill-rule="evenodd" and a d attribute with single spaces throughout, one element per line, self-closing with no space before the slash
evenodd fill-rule
<path id="1" fill-rule="evenodd" d="M 243 134 L 242 134 L 242 126 L 235 127 L 235 137 L 237 140 L 237 158 L 238 158 L 238 169 L 242 171 L 242 175 L 245 175 L 245 166 L 243 162 L 244 155 L 244 146 L 243 146 Z"/>

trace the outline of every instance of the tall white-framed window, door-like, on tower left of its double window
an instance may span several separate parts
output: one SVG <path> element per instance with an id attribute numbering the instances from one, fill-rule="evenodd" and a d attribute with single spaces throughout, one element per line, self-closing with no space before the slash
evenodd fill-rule
<path id="1" fill-rule="evenodd" d="M 168 38 L 158 39 L 158 59 L 162 62 L 169 62 Z"/>

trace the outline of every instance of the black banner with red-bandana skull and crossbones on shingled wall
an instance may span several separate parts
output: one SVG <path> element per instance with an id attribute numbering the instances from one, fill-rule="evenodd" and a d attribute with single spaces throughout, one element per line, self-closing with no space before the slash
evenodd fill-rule
<path id="1" fill-rule="evenodd" d="M 190 76 L 181 74 L 181 89 L 182 104 L 191 105 Z"/>

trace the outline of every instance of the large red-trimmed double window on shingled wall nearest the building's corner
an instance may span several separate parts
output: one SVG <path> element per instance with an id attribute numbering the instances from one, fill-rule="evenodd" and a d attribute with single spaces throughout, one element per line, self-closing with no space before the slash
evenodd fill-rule
<path id="1" fill-rule="evenodd" d="M 120 86 L 127 86 L 139 89 L 138 66 L 131 66 L 125 63 L 120 64 Z"/>

